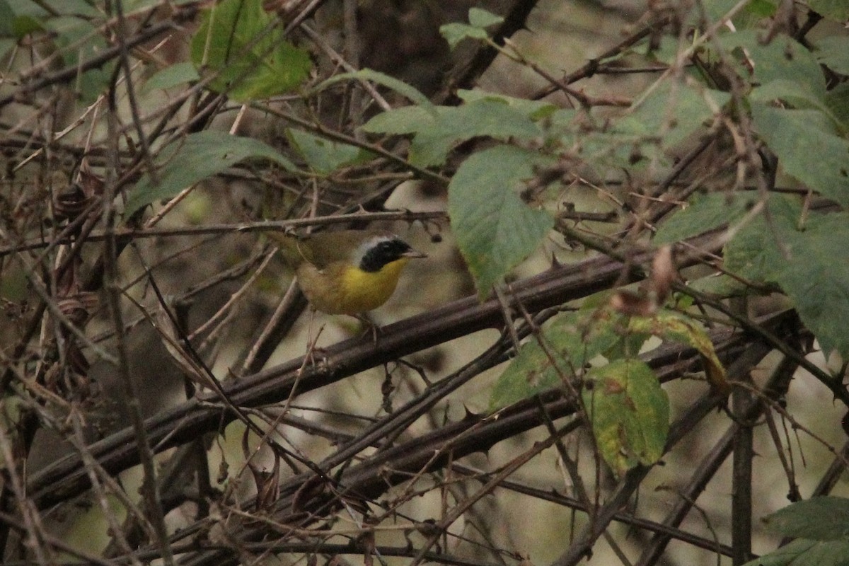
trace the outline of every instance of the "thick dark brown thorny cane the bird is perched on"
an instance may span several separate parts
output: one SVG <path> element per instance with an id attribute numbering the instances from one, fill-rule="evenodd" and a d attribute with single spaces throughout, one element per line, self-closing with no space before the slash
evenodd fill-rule
<path id="1" fill-rule="evenodd" d="M 695 246 L 711 241 L 711 237 L 696 238 Z M 637 254 L 632 264 L 650 261 L 651 252 Z M 619 261 L 596 257 L 570 266 L 554 266 L 548 272 L 514 283 L 511 300 L 520 302 L 527 311 L 537 312 L 569 300 L 586 297 L 621 280 L 623 266 Z M 628 272 L 627 280 L 635 280 Z M 383 329 L 380 341 L 374 344 L 368 336 L 351 339 L 325 350 L 326 363 L 307 365 L 296 378 L 303 359 L 297 358 L 255 375 L 225 382 L 225 391 L 237 406 L 261 406 L 288 399 L 295 383 L 298 393 L 305 393 L 335 383 L 369 367 L 443 344 L 449 340 L 485 328 L 501 328 L 502 307 L 498 300 L 479 303 L 474 297 L 457 300 L 435 311 L 410 317 Z M 145 429 L 155 451 L 193 440 L 199 434 L 218 429 L 233 418 L 219 406 L 211 406 L 214 396 L 188 401 L 148 419 Z M 116 473 L 138 463 L 138 453 L 128 444 L 132 433 L 122 430 L 100 440 L 91 450 L 105 469 Z M 87 480 L 79 457 L 65 457 L 40 473 L 32 474 L 29 493 L 39 506 L 45 506 L 76 495 L 87 489 Z"/>

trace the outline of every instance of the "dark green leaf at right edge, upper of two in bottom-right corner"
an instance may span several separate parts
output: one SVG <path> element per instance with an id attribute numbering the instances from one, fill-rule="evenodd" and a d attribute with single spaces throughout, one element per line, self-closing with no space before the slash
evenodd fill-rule
<path id="1" fill-rule="evenodd" d="M 849 537 L 849 499 L 812 497 L 779 509 L 763 518 L 763 522 L 767 530 L 793 538 L 812 541 L 846 539 Z"/>

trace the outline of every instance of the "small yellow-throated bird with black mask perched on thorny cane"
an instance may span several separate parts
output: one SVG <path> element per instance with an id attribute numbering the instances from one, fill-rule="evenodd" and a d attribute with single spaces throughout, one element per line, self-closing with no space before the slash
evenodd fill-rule
<path id="1" fill-rule="evenodd" d="M 312 307 L 328 314 L 359 315 L 383 305 L 407 262 L 427 257 L 385 230 L 267 235 L 295 269 Z"/>

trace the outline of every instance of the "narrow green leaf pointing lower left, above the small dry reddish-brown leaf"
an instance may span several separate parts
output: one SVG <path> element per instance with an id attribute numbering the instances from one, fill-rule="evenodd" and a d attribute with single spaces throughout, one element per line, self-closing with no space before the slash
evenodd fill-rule
<path id="1" fill-rule="evenodd" d="M 755 193 L 708 193 L 697 196 L 692 204 L 661 223 L 655 245 L 672 244 L 725 226 L 745 215 L 755 205 Z"/>

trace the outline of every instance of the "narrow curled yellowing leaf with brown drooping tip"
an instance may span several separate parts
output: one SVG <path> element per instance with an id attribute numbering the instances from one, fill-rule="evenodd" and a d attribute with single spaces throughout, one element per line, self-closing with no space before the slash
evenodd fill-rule
<path id="1" fill-rule="evenodd" d="M 649 333 L 665 342 L 678 342 L 694 348 L 701 355 L 711 387 L 720 395 L 730 393 L 725 367 L 722 367 L 722 361 L 719 361 L 710 337 L 698 322 L 674 311 L 661 310 L 653 317 L 632 317 L 628 329 L 635 333 Z"/>

